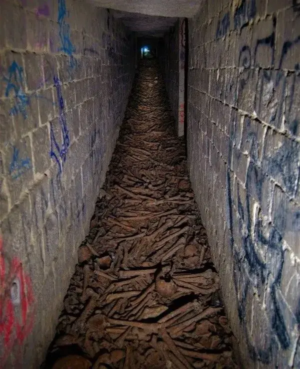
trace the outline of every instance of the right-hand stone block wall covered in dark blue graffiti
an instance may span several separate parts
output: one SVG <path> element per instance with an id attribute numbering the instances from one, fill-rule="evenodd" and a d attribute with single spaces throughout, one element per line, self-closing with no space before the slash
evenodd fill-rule
<path id="1" fill-rule="evenodd" d="M 299 367 L 300 5 L 203 0 L 188 21 L 192 186 L 245 367 Z"/>

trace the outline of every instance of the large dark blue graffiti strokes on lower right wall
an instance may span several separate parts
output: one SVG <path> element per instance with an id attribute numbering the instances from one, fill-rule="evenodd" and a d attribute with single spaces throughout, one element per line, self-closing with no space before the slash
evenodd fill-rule
<path id="1" fill-rule="evenodd" d="M 238 296 L 238 317 L 244 328 L 251 358 L 260 360 L 263 363 L 269 363 L 277 349 L 276 339 L 283 349 L 289 348 L 291 337 L 287 327 L 290 325 L 297 326 L 300 323 L 300 321 L 294 320 L 293 313 L 289 312 L 279 292 L 284 262 L 283 237 L 286 229 L 281 229 L 279 233 L 274 225 L 265 224 L 260 210 L 255 220 L 253 219 L 251 189 L 254 187 L 261 199 L 263 183 L 263 175 L 253 163 L 249 165 L 247 172 L 245 203 L 241 200 L 241 188 L 235 183 L 237 187 L 237 204 L 234 204 L 233 194 L 231 193 L 233 183 L 230 180 L 229 170 L 227 170 L 226 179 L 227 216 L 231 235 L 230 247 L 234 262 L 234 285 Z M 237 208 L 237 215 L 234 212 L 234 206 Z M 278 206 L 275 214 L 275 224 L 284 222 L 283 218 L 286 210 L 284 203 Z M 290 217 L 293 219 L 293 231 L 299 232 L 300 224 L 298 219 L 300 212 L 295 212 Z M 238 240 L 241 240 L 241 245 L 238 246 L 235 243 L 238 240 L 234 239 L 234 234 L 236 233 L 240 235 Z M 258 340 L 255 339 L 256 337 L 253 338 L 251 332 L 248 331 L 245 319 L 247 303 L 253 296 L 252 288 L 258 291 L 258 295 L 261 293 L 261 298 L 263 293 L 265 294 L 266 310 L 268 311 L 267 326 L 264 326 L 264 337 L 263 339 L 260 337 Z M 259 319 L 257 316 L 256 318 L 257 320 Z M 263 318 L 261 319 L 264 322 Z"/>

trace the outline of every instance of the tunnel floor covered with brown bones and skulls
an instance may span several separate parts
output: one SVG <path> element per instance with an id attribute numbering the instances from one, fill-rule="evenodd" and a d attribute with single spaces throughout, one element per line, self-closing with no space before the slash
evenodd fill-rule
<path id="1" fill-rule="evenodd" d="M 184 142 L 173 127 L 158 68 L 145 61 L 46 367 L 60 356 L 55 369 L 235 367 Z"/>

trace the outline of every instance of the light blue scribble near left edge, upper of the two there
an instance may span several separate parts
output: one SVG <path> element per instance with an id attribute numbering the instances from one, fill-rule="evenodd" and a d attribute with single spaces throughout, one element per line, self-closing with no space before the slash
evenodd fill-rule
<path id="1" fill-rule="evenodd" d="M 4 76 L 3 81 L 6 82 L 5 96 L 8 97 L 10 91 L 12 91 L 16 100 L 9 114 L 15 115 L 21 113 L 23 118 L 26 119 L 26 107 L 29 105 L 29 98 L 24 92 L 23 68 L 13 61 L 8 67 L 8 76 Z"/>

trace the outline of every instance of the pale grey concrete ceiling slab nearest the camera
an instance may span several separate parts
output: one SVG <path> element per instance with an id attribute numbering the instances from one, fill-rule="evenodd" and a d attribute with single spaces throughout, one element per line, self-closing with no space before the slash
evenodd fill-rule
<path id="1" fill-rule="evenodd" d="M 101 8 L 110 8 L 148 16 L 186 17 L 197 13 L 201 0 L 90 0 Z"/>

